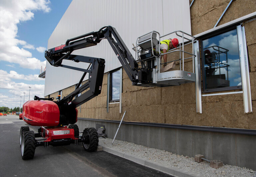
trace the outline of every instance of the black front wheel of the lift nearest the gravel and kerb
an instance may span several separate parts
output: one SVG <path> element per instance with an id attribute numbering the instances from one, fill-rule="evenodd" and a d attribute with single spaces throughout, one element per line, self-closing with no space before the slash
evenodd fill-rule
<path id="1" fill-rule="evenodd" d="M 94 128 L 84 129 L 83 137 L 86 138 L 86 142 L 83 142 L 84 150 L 88 152 L 96 151 L 99 144 L 97 130 Z"/>

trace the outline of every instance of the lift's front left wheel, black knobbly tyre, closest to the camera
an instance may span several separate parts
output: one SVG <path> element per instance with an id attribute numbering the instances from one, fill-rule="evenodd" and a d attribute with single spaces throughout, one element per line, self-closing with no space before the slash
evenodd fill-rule
<path id="1" fill-rule="evenodd" d="M 35 154 L 36 139 L 33 131 L 23 132 L 21 138 L 21 156 L 23 160 L 32 159 Z"/>

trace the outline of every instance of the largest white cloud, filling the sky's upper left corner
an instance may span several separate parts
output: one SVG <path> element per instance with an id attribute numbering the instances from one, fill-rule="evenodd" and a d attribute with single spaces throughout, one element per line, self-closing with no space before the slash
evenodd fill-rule
<path id="1" fill-rule="evenodd" d="M 1 0 L 0 1 L 0 60 L 18 63 L 21 67 L 40 69 L 43 64 L 39 59 L 32 57 L 32 53 L 24 48 L 33 48 L 25 41 L 16 39 L 17 24 L 31 20 L 32 11 L 42 10 L 49 12 L 49 0 Z M 24 48 L 19 48 L 21 44 Z M 28 63 L 31 62 L 31 63 Z M 45 65 L 44 65 L 45 66 Z"/>

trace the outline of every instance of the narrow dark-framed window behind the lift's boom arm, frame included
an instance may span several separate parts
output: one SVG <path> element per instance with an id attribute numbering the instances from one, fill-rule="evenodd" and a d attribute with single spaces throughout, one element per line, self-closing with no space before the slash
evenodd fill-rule
<path id="1" fill-rule="evenodd" d="M 110 73 L 110 101 L 118 102 L 120 99 L 120 70 Z"/>

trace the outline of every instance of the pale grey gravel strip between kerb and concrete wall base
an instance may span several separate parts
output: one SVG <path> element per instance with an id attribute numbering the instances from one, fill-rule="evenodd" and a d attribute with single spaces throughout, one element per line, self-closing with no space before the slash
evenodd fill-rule
<path id="1" fill-rule="evenodd" d="M 165 150 L 149 148 L 121 140 L 115 140 L 114 144 L 111 145 L 112 141 L 113 139 L 109 138 L 99 138 L 99 144 L 104 144 L 107 147 L 202 176 L 256 177 L 256 171 L 248 168 L 224 164 L 223 167 L 215 169 L 209 166 L 209 162 L 195 162 L 194 157 L 177 155 Z"/>

